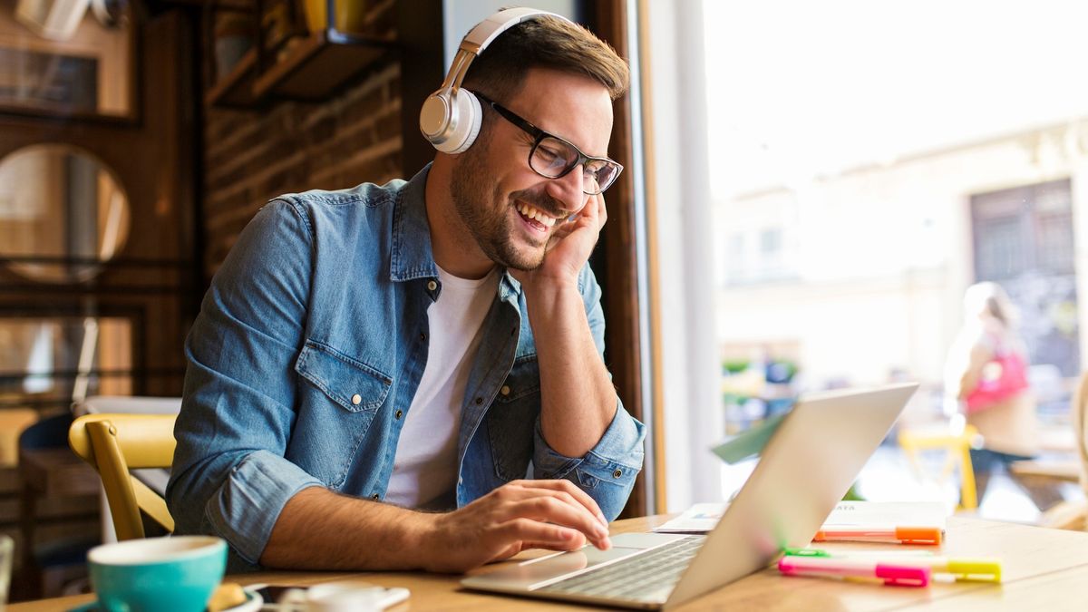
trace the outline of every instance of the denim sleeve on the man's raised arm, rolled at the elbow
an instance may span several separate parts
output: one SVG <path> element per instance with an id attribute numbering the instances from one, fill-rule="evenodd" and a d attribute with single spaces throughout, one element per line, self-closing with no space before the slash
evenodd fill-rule
<path id="1" fill-rule="evenodd" d="M 585 303 L 590 332 L 597 353 L 604 359 L 605 319 L 601 307 L 601 286 L 586 265 L 579 277 L 579 290 Z M 533 445 L 534 478 L 566 478 L 578 485 L 601 506 L 609 521 L 619 516 L 642 470 L 646 427 L 628 414 L 617 397 L 616 414 L 601 440 L 584 456 L 564 456 L 548 445 L 536 418 Z"/>

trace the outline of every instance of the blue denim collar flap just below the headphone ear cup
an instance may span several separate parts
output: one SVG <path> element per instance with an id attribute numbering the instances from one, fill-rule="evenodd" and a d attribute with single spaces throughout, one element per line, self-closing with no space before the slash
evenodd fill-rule
<path id="1" fill-rule="evenodd" d="M 400 189 L 393 210 L 393 253 L 390 258 L 390 280 L 436 278 L 431 250 L 431 224 L 426 219 L 428 163 Z"/>

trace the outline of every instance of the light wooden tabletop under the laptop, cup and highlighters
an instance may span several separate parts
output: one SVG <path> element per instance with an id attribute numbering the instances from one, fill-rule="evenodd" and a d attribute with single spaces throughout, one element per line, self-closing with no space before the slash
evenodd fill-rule
<path id="1" fill-rule="evenodd" d="M 613 524 L 613 533 L 646 530 L 667 517 L 631 518 Z M 836 543 L 833 550 L 873 549 L 877 544 Z M 887 546 L 887 544 L 882 544 Z M 786 577 L 764 570 L 688 603 L 678 610 L 1085 610 L 1088 602 L 1088 534 L 950 518 L 942 552 L 1002 560 L 1004 583 L 935 584 L 929 588 L 885 587 L 824 578 Z M 494 566 L 479 572 L 491 571 Z M 518 599 L 467 591 L 460 576 L 422 573 L 275 572 L 239 575 L 244 584 L 258 582 L 312 585 L 333 579 L 361 579 L 386 587 L 407 587 L 411 597 L 393 608 L 408 610 L 548 610 L 579 607 L 554 601 Z M 92 596 L 75 596 L 10 605 L 12 612 L 65 611 Z M 601 608 L 590 608 L 601 610 Z"/>

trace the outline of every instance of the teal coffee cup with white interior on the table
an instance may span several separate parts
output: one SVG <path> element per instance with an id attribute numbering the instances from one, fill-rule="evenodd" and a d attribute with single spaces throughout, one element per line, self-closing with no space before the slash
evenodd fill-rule
<path id="1" fill-rule="evenodd" d="M 128 540 L 87 553 L 108 612 L 201 612 L 226 570 L 226 542 L 209 536 Z"/>

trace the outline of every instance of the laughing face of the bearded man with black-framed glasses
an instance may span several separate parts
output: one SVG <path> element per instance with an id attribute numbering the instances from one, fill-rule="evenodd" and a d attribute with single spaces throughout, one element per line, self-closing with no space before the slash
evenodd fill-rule
<path id="1" fill-rule="evenodd" d="M 510 100 L 495 100 L 541 130 L 570 140 L 590 156 L 608 152 L 611 100 L 595 81 L 534 69 Z M 461 154 L 450 191 L 457 215 L 492 261 L 533 270 L 544 260 L 548 238 L 582 209 L 582 168 L 546 179 L 529 167 L 533 138 L 491 113 L 487 134 Z"/>

